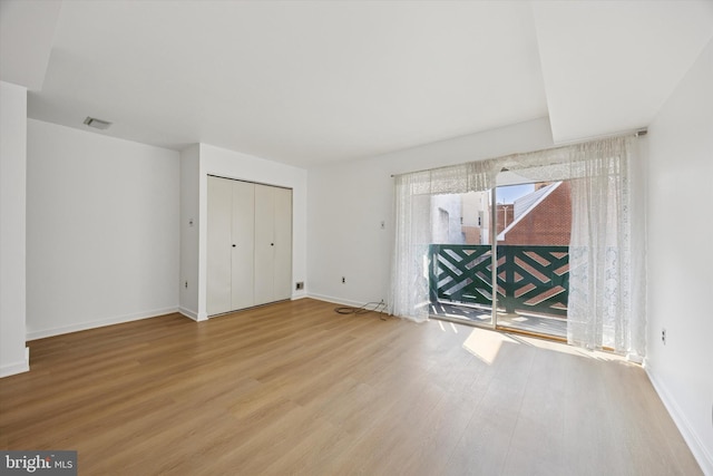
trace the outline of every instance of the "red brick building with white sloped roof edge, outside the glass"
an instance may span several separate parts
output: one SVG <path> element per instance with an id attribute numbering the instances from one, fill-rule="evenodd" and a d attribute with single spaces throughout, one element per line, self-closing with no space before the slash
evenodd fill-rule
<path id="1" fill-rule="evenodd" d="M 528 203 L 528 200 L 533 203 Z M 499 244 L 569 245 L 572 196 L 568 182 L 540 184 L 530 195 L 505 206 L 517 212 L 518 203 L 529 206 L 519 214 L 508 215 L 505 230 L 500 230 L 500 223 L 506 211 L 500 208 L 504 205 L 498 205 Z"/>

